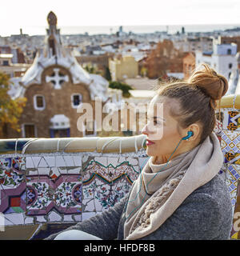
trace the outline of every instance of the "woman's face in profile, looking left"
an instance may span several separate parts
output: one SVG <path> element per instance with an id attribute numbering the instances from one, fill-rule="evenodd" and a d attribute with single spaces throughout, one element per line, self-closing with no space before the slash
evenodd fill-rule
<path id="1" fill-rule="evenodd" d="M 147 136 L 146 154 L 149 156 L 170 157 L 181 138 L 187 135 L 187 129 L 183 130 L 177 120 L 170 116 L 170 106 L 179 109 L 179 103 L 176 100 L 163 96 L 155 96 L 150 102 L 147 112 L 148 122 L 142 130 L 142 134 Z M 182 153 L 184 150 L 184 143 L 183 145 L 182 143 L 171 158 Z"/>

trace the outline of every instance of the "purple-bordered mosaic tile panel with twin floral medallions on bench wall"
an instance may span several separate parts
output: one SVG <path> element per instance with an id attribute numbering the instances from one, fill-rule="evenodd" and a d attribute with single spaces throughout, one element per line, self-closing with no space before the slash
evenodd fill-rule
<path id="1" fill-rule="evenodd" d="M 81 175 L 28 176 L 26 182 L 29 216 L 46 215 L 55 209 L 59 214 L 76 214 L 82 211 Z"/>

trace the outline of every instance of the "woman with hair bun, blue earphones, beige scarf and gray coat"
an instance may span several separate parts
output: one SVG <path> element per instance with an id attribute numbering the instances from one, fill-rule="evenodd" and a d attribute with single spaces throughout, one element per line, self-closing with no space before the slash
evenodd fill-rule
<path id="1" fill-rule="evenodd" d="M 226 78 L 203 64 L 188 82 L 161 86 L 150 102 L 146 154 L 130 193 L 118 204 L 46 239 L 228 239 L 230 195 L 218 174 L 216 100 Z"/>

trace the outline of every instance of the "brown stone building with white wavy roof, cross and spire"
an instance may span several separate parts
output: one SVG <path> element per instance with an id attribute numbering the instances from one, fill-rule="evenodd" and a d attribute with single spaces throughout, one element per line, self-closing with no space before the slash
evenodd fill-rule
<path id="1" fill-rule="evenodd" d="M 90 103 L 95 113 L 95 98 L 102 104 L 111 102 L 119 90 L 111 90 L 108 82 L 98 74 L 89 74 L 78 64 L 70 49 L 62 46 L 57 16 L 51 11 L 47 16 L 45 46 L 38 49 L 33 64 L 22 78 L 15 78 L 11 87 L 12 98 L 25 97 L 26 106 L 19 119 L 21 132 L 11 130 L 7 138 L 55 138 L 97 135 L 95 116 L 82 130 L 77 122 L 77 112 L 82 102 Z M 90 127 L 91 129 L 86 129 Z M 88 131 L 90 130 L 90 131 Z"/>

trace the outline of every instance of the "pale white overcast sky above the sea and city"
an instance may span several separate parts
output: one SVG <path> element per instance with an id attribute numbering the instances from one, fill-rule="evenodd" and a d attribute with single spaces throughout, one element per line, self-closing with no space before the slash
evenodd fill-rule
<path id="1" fill-rule="evenodd" d="M 239 0 L 0 0 L 0 35 L 46 34 L 50 10 L 64 26 L 239 24 Z"/>

